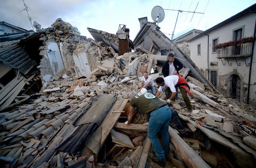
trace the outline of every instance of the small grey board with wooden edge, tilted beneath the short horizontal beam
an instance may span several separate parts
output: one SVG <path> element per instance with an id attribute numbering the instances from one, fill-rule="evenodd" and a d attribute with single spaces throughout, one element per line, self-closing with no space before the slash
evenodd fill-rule
<path id="1" fill-rule="evenodd" d="M 130 138 L 127 135 L 124 135 L 124 134 L 112 129 L 111 137 L 112 137 L 112 142 L 132 148 L 133 150 L 135 150 L 135 147 L 134 147 L 132 141 L 130 140 Z"/>

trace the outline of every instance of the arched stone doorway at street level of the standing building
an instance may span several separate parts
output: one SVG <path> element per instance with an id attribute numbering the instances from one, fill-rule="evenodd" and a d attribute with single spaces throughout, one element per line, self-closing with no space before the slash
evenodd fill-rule
<path id="1" fill-rule="evenodd" d="M 244 77 L 234 69 L 227 75 L 227 96 L 244 102 L 243 88 Z"/>

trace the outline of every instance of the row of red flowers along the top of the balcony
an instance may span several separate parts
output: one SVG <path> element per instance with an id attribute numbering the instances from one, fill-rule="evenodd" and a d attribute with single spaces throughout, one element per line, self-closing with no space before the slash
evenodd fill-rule
<path id="1" fill-rule="evenodd" d="M 245 37 L 245 38 L 241 38 L 239 40 L 234 40 L 234 41 L 229 41 L 229 42 L 225 42 L 225 43 L 216 44 L 216 45 L 214 45 L 213 49 L 216 50 L 216 49 L 219 49 L 219 48 L 226 48 L 226 47 L 235 46 L 235 45 L 238 45 L 238 44 L 251 43 L 255 39 L 256 39 L 256 36 L 255 37 L 253 37 L 253 36 Z"/>

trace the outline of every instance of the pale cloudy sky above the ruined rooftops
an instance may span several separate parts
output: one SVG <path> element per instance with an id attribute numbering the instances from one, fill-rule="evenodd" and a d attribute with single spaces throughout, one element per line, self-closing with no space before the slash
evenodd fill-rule
<path id="1" fill-rule="evenodd" d="M 151 11 L 157 5 L 163 9 L 204 12 L 203 15 L 195 13 L 193 18 L 193 13 L 180 13 L 175 38 L 194 28 L 205 31 L 253 5 L 255 0 L 25 0 L 25 3 L 29 6 L 32 24 L 36 21 L 42 28 L 62 18 L 77 27 L 81 35 L 92 38 L 87 27 L 116 34 L 119 24 L 123 24 L 130 29 L 133 40 L 140 28 L 138 18 L 147 16 L 148 21 L 153 22 Z M 22 0 L 1 0 L 0 4 L 0 21 L 32 29 Z M 171 34 L 178 11 L 164 11 L 165 18 L 158 26 L 162 32 Z"/>

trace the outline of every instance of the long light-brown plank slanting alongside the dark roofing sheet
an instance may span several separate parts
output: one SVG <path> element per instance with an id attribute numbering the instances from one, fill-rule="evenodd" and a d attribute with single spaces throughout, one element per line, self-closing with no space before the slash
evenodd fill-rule
<path id="1" fill-rule="evenodd" d="M 101 123 L 101 147 L 103 146 L 104 142 L 106 141 L 108 135 L 110 134 L 110 131 L 113 129 L 114 125 L 116 124 L 119 116 L 121 113 L 112 113 L 112 111 L 115 110 L 123 110 L 126 103 L 128 102 L 128 99 L 118 99 L 112 106 L 112 108 L 109 110 L 108 114 L 104 118 L 104 120 Z M 101 148 L 100 147 L 100 148 Z"/>

